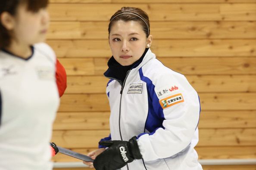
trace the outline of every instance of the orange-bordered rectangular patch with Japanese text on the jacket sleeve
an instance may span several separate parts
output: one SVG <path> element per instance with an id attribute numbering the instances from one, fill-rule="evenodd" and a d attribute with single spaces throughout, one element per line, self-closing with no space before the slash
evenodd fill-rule
<path id="1" fill-rule="evenodd" d="M 162 109 L 166 109 L 170 106 L 173 106 L 181 102 L 184 102 L 184 98 L 181 93 L 159 100 L 159 103 L 162 106 Z"/>

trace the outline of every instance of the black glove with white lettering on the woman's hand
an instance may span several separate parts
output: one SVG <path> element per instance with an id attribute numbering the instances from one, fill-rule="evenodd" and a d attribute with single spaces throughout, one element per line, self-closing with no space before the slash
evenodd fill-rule
<path id="1" fill-rule="evenodd" d="M 96 170 L 116 170 L 134 159 L 142 158 L 135 136 L 129 141 L 109 140 L 99 142 L 99 144 L 109 148 L 94 160 Z"/>

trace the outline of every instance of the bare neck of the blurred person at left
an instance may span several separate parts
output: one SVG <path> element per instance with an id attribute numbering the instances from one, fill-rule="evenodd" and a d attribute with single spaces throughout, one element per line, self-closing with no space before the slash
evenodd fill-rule
<path id="1" fill-rule="evenodd" d="M 24 59 L 27 59 L 32 55 L 31 47 L 29 45 L 21 44 L 16 41 L 12 41 L 11 45 L 5 49 Z"/>

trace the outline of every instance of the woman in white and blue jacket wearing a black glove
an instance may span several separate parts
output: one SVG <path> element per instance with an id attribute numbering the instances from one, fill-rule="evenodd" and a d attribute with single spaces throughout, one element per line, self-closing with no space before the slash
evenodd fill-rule
<path id="1" fill-rule="evenodd" d="M 200 100 L 187 79 L 150 50 L 148 15 L 123 7 L 110 19 L 112 57 L 104 75 L 110 135 L 88 155 L 96 170 L 202 170 L 198 142 Z"/>

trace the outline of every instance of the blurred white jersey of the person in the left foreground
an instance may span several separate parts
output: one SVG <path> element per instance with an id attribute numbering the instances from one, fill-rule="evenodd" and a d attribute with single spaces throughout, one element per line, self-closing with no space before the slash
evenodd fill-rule
<path id="1" fill-rule="evenodd" d="M 22 59 L 0 50 L 0 170 L 51 170 L 49 142 L 59 106 L 56 56 L 45 43 Z"/>

